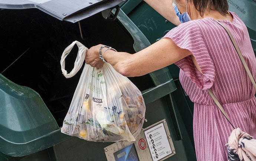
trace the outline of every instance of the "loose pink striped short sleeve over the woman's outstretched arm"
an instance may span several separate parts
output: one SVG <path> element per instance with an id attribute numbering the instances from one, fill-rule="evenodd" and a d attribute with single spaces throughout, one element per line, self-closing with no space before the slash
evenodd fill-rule
<path id="1" fill-rule="evenodd" d="M 188 49 L 196 59 L 202 73 L 194 65 L 191 56 L 187 56 L 175 62 L 185 75 L 191 79 L 200 89 L 206 90 L 213 86 L 215 69 L 209 50 L 200 26 L 193 21 L 188 21 L 170 30 L 163 38 L 170 38 L 175 44 Z"/>

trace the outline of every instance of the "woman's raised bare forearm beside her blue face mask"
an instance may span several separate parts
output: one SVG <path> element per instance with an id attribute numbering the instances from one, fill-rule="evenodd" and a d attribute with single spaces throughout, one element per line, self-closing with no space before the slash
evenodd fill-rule
<path id="1" fill-rule="evenodd" d="M 181 24 L 173 8 L 173 0 L 144 0 L 154 10 L 175 25 Z"/>

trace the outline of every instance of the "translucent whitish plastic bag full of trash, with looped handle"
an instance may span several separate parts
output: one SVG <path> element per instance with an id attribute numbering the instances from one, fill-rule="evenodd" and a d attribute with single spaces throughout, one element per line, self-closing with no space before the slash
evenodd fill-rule
<path id="1" fill-rule="evenodd" d="M 65 58 L 74 45 L 78 56 L 74 69 L 67 73 Z M 88 48 L 74 41 L 63 52 L 60 64 L 70 78 L 81 68 Z M 145 117 L 140 90 L 109 63 L 101 69 L 85 64 L 61 132 L 88 141 L 135 141 Z"/>

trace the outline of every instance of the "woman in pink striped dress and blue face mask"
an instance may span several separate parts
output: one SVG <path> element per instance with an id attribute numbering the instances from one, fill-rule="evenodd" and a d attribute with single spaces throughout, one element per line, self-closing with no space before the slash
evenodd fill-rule
<path id="1" fill-rule="evenodd" d="M 232 127 L 206 89 L 213 91 L 233 125 L 253 137 L 256 137 L 256 91 L 227 32 L 214 20 L 229 28 L 255 78 L 256 59 L 249 34 L 237 14 L 228 11 L 227 0 L 177 0 L 175 3 L 177 15 L 188 22 L 135 54 L 104 47 L 104 59 L 128 77 L 176 64 L 181 69 L 181 85 L 194 102 L 197 160 L 226 161 L 225 144 Z M 101 47 L 99 44 L 88 50 L 86 64 L 101 68 L 104 64 L 99 58 Z"/>

